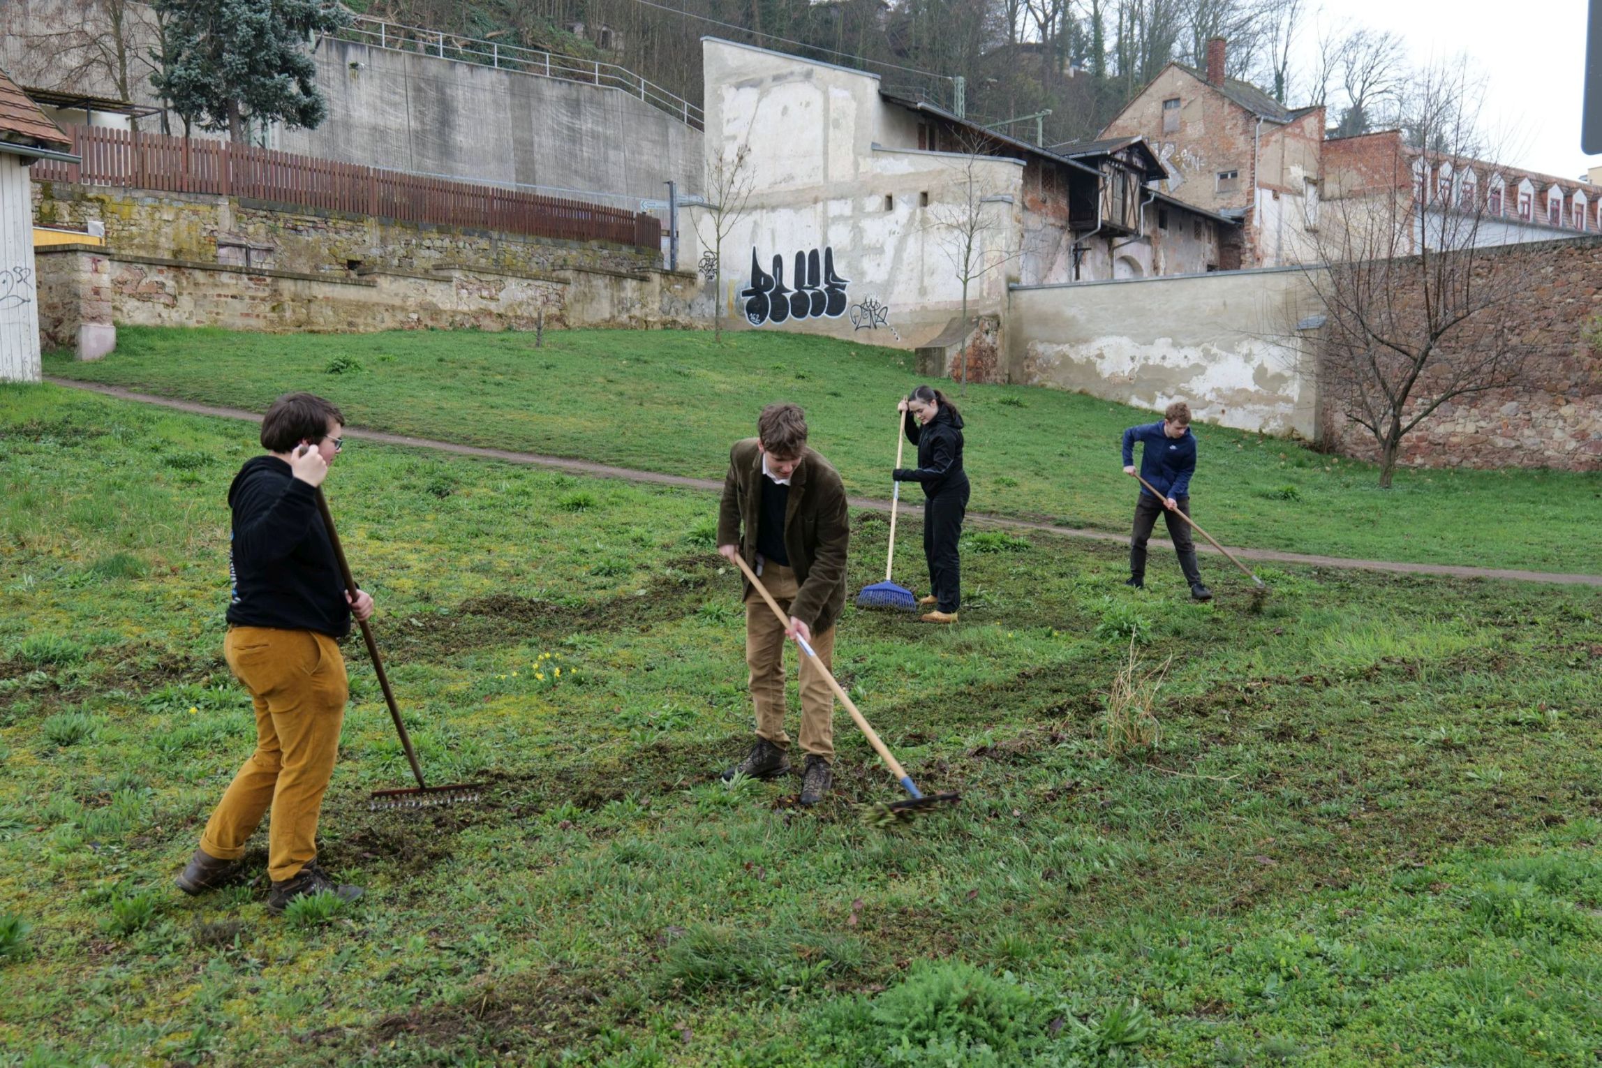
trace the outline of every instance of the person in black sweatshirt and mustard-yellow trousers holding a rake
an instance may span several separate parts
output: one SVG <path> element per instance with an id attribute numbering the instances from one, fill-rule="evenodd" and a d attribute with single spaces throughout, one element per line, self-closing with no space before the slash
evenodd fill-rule
<path id="1" fill-rule="evenodd" d="M 367 620 L 373 599 L 344 589 L 333 543 L 317 511 L 317 487 L 344 442 L 344 416 L 312 394 L 287 394 L 261 420 L 266 456 L 245 461 L 227 492 L 232 596 L 223 655 L 256 708 L 256 751 L 211 813 L 200 847 L 178 876 L 203 893 L 239 874 L 245 842 L 271 809 L 268 908 L 333 890 L 317 866 L 317 817 L 333 775 L 349 697 L 338 639 L 351 616 Z"/>

